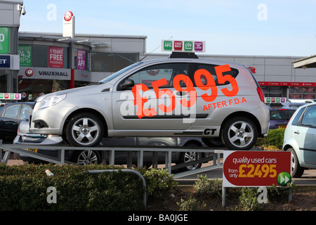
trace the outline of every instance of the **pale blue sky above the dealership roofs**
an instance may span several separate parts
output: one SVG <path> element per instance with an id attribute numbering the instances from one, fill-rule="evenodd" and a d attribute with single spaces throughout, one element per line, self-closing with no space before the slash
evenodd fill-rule
<path id="1" fill-rule="evenodd" d="M 146 52 L 161 40 L 206 41 L 207 55 L 316 54 L 316 0 L 24 0 L 20 32 L 62 33 L 67 11 L 76 34 L 145 35 Z"/>

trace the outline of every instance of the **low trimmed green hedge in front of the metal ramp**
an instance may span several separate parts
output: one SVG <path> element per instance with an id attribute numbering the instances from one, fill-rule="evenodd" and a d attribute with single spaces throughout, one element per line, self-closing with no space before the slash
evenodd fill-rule
<path id="1" fill-rule="evenodd" d="M 46 169 L 55 176 L 47 176 Z M 119 169 L 118 172 L 89 174 L 86 170 Z M 121 167 L 106 165 L 0 165 L 0 210 L 145 210 L 143 181 Z M 150 172 L 140 169 L 146 184 L 157 184 Z M 169 176 L 153 170 L 154 174 Z M 172 176 L 172 175 L 171 175 Z M 164 178 L 166 180 L 166 178 Z M 171 179 L 173 181 L 173 179 Z M 173 181 L 174 182 L 174 181 Z M 176 185 L 166 185 L 166 191 Z M 56 203 L 48 203 L 51 190 Z M 152 187 L 147 186 L 152 190 Z M 160 192 L 164 188 L 159 188 Z M 53 198 L 49 200 L 52 202 Z"/>

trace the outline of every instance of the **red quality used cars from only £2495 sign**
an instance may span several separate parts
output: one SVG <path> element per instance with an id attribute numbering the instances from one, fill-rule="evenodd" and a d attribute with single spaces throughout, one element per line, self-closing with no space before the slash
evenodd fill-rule
<path id="1" fill-rule="evenodd" d="M 224 151 L 223 186 L 279 186 L 278 176 L 291 174 L 291 153 Z"/>

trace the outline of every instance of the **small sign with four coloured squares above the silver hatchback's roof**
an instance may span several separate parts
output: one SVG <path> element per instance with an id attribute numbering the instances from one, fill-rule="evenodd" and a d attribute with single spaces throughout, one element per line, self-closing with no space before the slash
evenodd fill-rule
<path id="1" fill-rule="evenodd" d="M 205 52 L 205 41 L 162 40 L 162 51 Z"/>

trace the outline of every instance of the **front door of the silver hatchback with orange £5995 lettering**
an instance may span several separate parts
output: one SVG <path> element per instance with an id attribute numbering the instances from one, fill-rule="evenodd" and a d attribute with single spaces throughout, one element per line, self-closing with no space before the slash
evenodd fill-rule
<path id="1" fill-rule="evenodd" d="M 190 115 L 181 105 L 181 100 L 185 98 L 182 92 L 185 92 L 187 84 L 187 80 L 183 79 L 190 79 L 187 76 L 188 65 L 189 63 L 150 65 L 121 79 L 114 86 L 112 96 L 114 129 L 189 128 L 191 123 L 183 122 L 183 118 Z M 120 85 L 127 80 L 134 85 L 130 89 L 121 89 Z"/>

